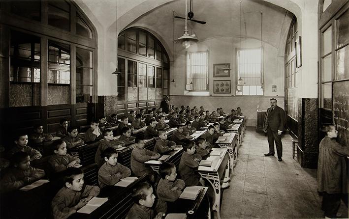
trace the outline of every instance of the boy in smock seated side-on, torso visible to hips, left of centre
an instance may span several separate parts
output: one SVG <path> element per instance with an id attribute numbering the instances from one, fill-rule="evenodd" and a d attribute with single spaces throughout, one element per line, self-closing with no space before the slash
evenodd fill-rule
<path id="1" fill-rule="evenodd" d="M 144 148 L 143 139 L 136 138 L 135 142 L 136 147 L 133 148 L 131 152 L 131 169 L 133 174 L 136 176 L 143 176 L 145 173 L 155 175 L 152 168 L 149 165 L 144 164 L 144 162 L 151 159 L 158 159 L 160 155 Z M 153 181 L 155 181 L 155 178 L 153 178 Z"/>

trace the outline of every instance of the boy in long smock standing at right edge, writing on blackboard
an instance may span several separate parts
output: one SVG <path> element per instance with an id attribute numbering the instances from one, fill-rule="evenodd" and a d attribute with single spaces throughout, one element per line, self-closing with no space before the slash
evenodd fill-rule
<path id="1" fill-rule="evenodd" d="M 317 190 L 322 192 L 321 209 L 325 218 L 337 218 L 341 199 L 348 207 L 348 169 L 346 157 L 349 147 L 336 141 L 338 131 L 333 124 L 320 129 L 326 134 L 319 145 L 317 162 Z"/>

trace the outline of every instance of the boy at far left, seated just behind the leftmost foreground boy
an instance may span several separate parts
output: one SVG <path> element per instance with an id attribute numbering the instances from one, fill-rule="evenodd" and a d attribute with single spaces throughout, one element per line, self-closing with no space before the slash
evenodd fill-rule
<path id="1" fill-rule="evenodd" d="M 15 139 L 15 145 L 9 150 L 7 157 L 11 160 L 12 155 L 16 152 L 22 151 L 27 153 L 30 156 L 30 161 L 40 159 L 41 153 L 38 150 L 35 150 L 28 146 L 28 136 L 25 134 L 17 135 Z"/>

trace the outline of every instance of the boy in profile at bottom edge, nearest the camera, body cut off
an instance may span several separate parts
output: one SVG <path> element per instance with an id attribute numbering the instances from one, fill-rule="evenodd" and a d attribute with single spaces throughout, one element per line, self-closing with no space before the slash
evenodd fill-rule
<path id="1" fill-rule="evenodd" d="M 162 219 L 164 213 L 156 214 L 153 210 L 155 203 L 155 195 L 153 194 L 153 187 L 147 183 L 142 182 L 136 185 L 131 193 L 134 204 L 129 210 L 126 219 Z"/>

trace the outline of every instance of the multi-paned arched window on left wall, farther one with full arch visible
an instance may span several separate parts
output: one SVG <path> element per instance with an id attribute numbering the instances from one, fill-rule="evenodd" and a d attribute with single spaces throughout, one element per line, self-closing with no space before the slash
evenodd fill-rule
<path id="1" fill-rule="evenodd" d="M 118 104 L 125 105 L 120 114 L 125 109 L 159 107 L 163 95 L 169 94 L 168 55 L 146 30 L 133 27 L 119 34 L 118 69 L 122 72 L 118 76 Z"/>

